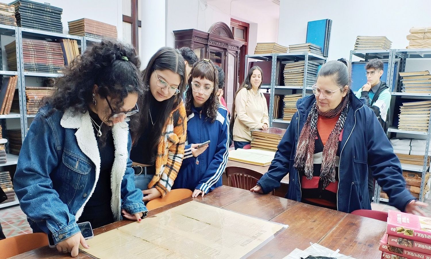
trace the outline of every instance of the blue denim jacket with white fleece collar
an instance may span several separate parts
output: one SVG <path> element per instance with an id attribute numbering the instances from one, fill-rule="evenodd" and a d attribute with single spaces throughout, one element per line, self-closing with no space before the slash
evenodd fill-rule
<path id="1" fill-rule="evenodd" d="M 49 110 L 41 108 L 31 123 L 19 154 L 14 188 L 31 228 L 51 232 L 54 243 L 59 243 L 80 231 L 76 221 L 96 187 L 100 154 L 88 112 L 49 114 Z M 120 220 L 121 209 L 146 215 L 143 194 L 134 186 L 128 124 L 115 124 L 112 137 L 112 215 Z"/>

